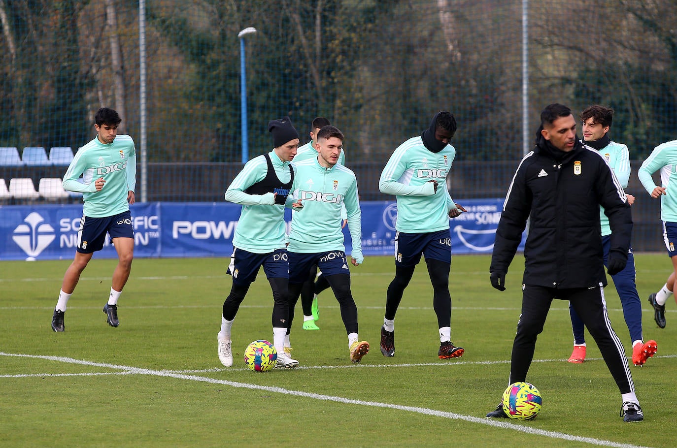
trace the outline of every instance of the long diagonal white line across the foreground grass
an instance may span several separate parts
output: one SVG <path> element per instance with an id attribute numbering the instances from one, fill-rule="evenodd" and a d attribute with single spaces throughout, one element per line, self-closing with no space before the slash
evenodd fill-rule
<path id="1" fill-rule="evenodd" d="M 62 362 L 62 363 L 90 365 L 90 366 L 94 366 L 94 367 L 107 367 L 107 368 L 110 368 L 110 369 L 121 369 L 121 370 L 125 371 L 125 373 L 127 373 L 127 374 L 162 376 L 162 377 L 168 377 L 168 378 L 177 378 L 179 380 L 191 380 L 191 381 L 198 381 L 198 382 L 206 382 L 206 383 L 209 383 L 209 384 L 223 384 L 225 386 L 231 386 L 231 387 L 236 387 L 236 388 L 265 390 L 266 392 L 271 392 L 271 393 L 293 395 L 294 397 L 306 397 L 306 398 L 315 399 L 315 400 L 322 400 L 322 401 L 333 401 L 335 403 L 346 403 L 346 404 L 351 404 L 351 405 L 362 405 L 362 406 L 370 406 L 370 407 L 382 407 L 382 408 L 387 408 L 387 409 L 396 409 L 398 411 L 415 412 L 415 413 L 420 413 L 420 414 L 424 414 L 424 415 L 427 415 L 427 416 L 449 418 L 449 419 L 452 419 L 452 420 L 463 420 L 465 422 L 470 422 L 470 423 L 483 424 L 483 425 L 486 425 L 486 426 L 494 426 L 496 428 L 504 428 L 504 429 L 509 429 L 509 430 L 515 430 L 515 431 L 519 431 L 519 432 L 525 432 L 527 434 L 535 434 L 535 435 L 539 435 L 539 436 L 545 436 L 545 437 L 548 437 L 550 439 L 563 439 L 563 440 L 567 440 L 567 441 L 590 443 L 591 445 L 599 445 L 599 446 L 603 446 L 603 447 L 644 448 L 644 447 L 641 447 L 640 445 L 631 445 L 631 444 L 627 444 L 627 443 L 617 443 L 617 442 L 613 442 L 613 441 L 605 441 L 605 440 L 602 440 L 602 439 L 594 439 L 592 437 L 575 436 L 573 434 L 565 434 L 564 432 L 542 430 L 542 429 L 539 429 L 539 428 L 531 428 L 529 426 L 523 426 L 523 425 L 511 423 L 511 422 L 494 420 L 494 419 L 491 419 L 491 418 L 479 418 L 479 417 L 473 417 L 473 416 L 465 416 L 465 415 L 459 414 L 459 413 L 438 411 L 436 409 L 429 409 L 429 408 L 426 408 L 426 407 L 394 405 L 394 404 L 391 404 L 391 403 L 381 403 L 379 401 L 355 400 L 355 399 L 348 399 L 348 398 L 345 398 L 345 397 L 336 397 L 335 395 L 324 395 L 324 394 L 303 392 L 301 390 L 290 390 L 290 389 L 285 389 L 285 388 L 276 387 L 276 386 L 260 386 L 259 384 L 248 384 L 248 383 L 242 383 L 242 382 L 236 382 L 236 381 L 217 380 L 215 378 L 207 378 L 207 377 L 204 377 L 204 376 L 175 374 L 175 373 L 171 373 L 171 372 L 167 372 L 167 371 L 163 371 L 163 370 L 143 369 L 143 368 L 140 368 L 140 367 L 130 367 L 130 366 L 127 366 L 127 365 L 115 365 L 115 364 L 108 364 L 108 363 L 94 363 L 94 362 L 91 362 L 91 361 L 84 361 L 84 360 L 81 360 L 81 359 L 73 359 L 73 358 L 68 358 L 68 357 L 44 356 L 44 355 L 26 355 L 26 354 L 21 354 L 21 353 L 4 353 L 4 352 L 0 352 L 0 356 L 26 357 L 26 358 L 33 358 L 33 359 L 47 359 L 47 360 L 50 360 L 50 361 L 58 361 L 58 362 Z"/>

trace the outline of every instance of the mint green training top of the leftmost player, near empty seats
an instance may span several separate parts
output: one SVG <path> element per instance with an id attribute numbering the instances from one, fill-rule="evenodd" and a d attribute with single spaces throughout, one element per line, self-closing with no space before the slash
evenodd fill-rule
<path id="1" fill-rule="evenodd" d="M 83 183 L 78 181 L 82 175 Z M 106 183 L 100 192 L 95 181 Z M 101 143 L 97 137 L 75 154 L 66 170 L 64 189 L 83 194 L 83 215 L 103 218 L 129 210 L 127 195 L 136 187 L 136 150 L 129 135 L 118 135 L 112 143 Z"/>

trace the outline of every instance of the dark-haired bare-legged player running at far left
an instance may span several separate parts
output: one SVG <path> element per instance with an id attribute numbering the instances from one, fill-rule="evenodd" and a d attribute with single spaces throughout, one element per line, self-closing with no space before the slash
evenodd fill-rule
<path id="1" fill-rule="evenodd" d="M 118 253 L 108 302 L 104 305 L 106 321 L 120 325 L 118 298 L 131 272 L 134 255 L 134 229 L 129 204 L 135 202 L 136 150 L 129 135 L 118 135 L 122 119 L 109 108 L 94 115 L 96 137 L 75 154 L 64 175 L 64 189 L 83 194 L 83 217 L 78 230 L 75 258 L 61 284 L 59 299 L 51 318 L 51 329 L 62 332 L 66 304 L 94 252 L 104 248 L 106 233 Z M 78 181 L 82 175 L 83 183 Z"/>

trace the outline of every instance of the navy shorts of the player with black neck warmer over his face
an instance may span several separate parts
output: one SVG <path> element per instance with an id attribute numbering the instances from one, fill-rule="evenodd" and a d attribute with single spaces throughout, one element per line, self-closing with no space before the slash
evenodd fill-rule
<path id="1" fill-rule="evenodd" d="M 395 233 L 395 265 L 416 266 L 421 261 L 439 260 L 452 263 L 452 236 L 449 230 L 431 233 Z"/>

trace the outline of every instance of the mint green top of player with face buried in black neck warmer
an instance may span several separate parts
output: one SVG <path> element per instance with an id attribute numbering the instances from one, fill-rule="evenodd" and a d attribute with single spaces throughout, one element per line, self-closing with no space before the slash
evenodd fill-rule
<path id="1" fill-rule="evenodd" d="M 452 145 L 431 152 L 421 137 L 408 139 L 393 152 L 381 173 L 378 189 L 397 196 L 397 231 L 431 233 L 449 229 L 449 212 L 457 207 L 447 189 L 447 173 L 455 156 Z M 437 181 L 437 192 L 431 180 Z"/>

